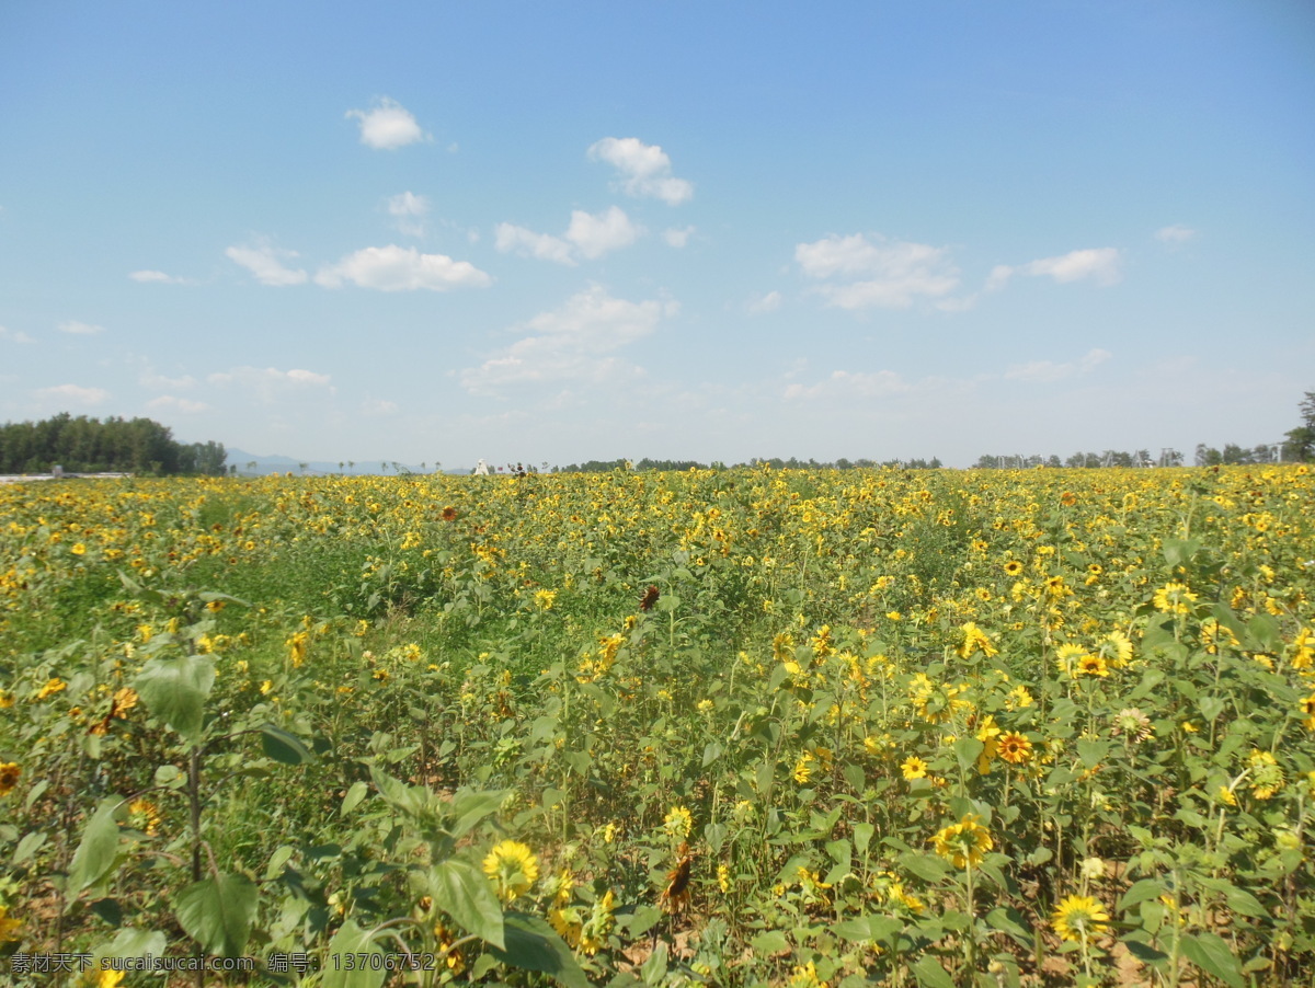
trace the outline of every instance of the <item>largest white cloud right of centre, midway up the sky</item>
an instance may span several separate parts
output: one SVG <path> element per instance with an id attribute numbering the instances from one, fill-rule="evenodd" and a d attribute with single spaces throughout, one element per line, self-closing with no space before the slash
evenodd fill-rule
<path id="1" fill-rule="evenodd" d="M 806 276 L 823 281 L 818 290 L 840 309 L 907 309 L 919 296 L 943 298 L 959 285 L 944 248 L 872 243 L 863 234 L 797 244 L 794 260 Z"/>

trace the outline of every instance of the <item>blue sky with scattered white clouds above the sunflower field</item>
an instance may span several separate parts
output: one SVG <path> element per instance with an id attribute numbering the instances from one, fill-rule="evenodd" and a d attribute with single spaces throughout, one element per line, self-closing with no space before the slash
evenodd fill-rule
<path id="1" fill-rule="evenodd" d="M 1252 445 L 1315 7 L 7 3 L 0 420 L 444 466 Z"/>

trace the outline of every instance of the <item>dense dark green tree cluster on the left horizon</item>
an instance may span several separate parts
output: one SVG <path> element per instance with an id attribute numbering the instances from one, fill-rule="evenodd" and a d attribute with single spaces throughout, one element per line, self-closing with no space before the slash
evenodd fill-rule
<path id="1" fill-rule="evenodd" d="M 179 443 L 153 419 L 101 419 L 68 413 L 0 426 L 0 473 L 174 474 L 227 472 L 222 443 Z"/>

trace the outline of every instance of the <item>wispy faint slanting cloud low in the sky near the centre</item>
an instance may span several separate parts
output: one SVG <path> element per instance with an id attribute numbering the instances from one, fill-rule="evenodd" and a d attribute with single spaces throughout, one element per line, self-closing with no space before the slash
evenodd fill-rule
<path id="1" fill-rule="evenodd" d="M 615 384 L 643 376 L 643 369 L 614 356 L 615 351 L 654 331 L 675 302 L 630 302 L 590 285 L 552 311 L 540 313 L 515 330 L 526 334 L 480 367 L 462 372 L 473 394 L 496 394 L 522 384 L 581 381 Z"/>

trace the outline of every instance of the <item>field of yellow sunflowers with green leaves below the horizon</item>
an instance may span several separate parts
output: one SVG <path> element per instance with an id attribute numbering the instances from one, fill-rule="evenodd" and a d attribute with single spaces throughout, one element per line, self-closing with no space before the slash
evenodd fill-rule
<path id="1" fill-rule="evenodd" d="M 1310 983 L 1312 598 L 1306 466 L 4 486 L 0 968 Z"/>

